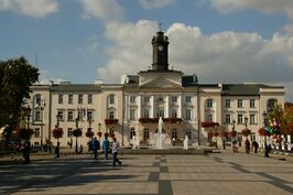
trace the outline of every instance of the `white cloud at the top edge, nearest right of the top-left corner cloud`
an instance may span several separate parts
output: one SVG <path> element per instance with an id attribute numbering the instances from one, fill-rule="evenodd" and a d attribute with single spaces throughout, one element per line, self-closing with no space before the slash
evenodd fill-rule
<path id="1" fill-rule="evenodd" d="M 116 0 L 80 0 L 84 17 L 95 17 L 104 22 L 122 21 L 124 10 Z"/>

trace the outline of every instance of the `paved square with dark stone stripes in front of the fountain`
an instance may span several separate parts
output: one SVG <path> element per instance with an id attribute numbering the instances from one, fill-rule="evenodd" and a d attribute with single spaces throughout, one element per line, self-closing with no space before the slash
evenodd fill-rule
<path id="1" fill-rule="evenodd" d="M 293 163 L 245 153 L 89 154 L 0 165 L 0 194 L 290 195 Z"/>

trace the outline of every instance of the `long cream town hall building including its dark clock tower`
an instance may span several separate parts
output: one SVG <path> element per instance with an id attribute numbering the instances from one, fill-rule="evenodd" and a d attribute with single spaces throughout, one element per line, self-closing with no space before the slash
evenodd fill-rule
<path id="1" fill-rule="evenodd" d="M 63 128 L 59 139 L 65 147 L 74 140 L 73 130 L 82 129 L 78 143 L 95 137 L 115 134 L 123 147 L 132 144 L 132 137 L 142 145 L 154 144 L 158 120 L 164 120 L 166 143 L 175 138 L 182 142 L 187 136 L 194 144 L 207 144 L 208 132 L 239 132 L 248 128 L 249 139 L 258 139 L 263 126 L 262 113 L 272 110 L 274 104 L 284 106 L 284 87 L 264 84 L 199 84 L 196 74 L 184 75 L 169 68 L 169 39 L 158 32 L 152 39 L 153 63 L 150 69 L 137 75 L 122 75 L 121 84 L 70 84 L 63 82 L 31 87 L 32 108 L 30 127 L 35 134 L 32 143 L 56 144 L 53 129 Z M 204 123 L 215 122 L 207 127 Z M 102 136 L 98 137 L 98 132 Z M 229 138 L 228 138 L 229 139 Z M 221 139 L 219 139 L 221 141 Z"/>

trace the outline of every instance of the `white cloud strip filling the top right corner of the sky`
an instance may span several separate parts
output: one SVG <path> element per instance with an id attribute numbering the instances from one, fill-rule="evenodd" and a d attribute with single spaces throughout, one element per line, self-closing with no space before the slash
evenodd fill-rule
<path id="1" fill-rule="evenodd" d="M 210 0 L 211 6 L 221 12 L 257 10 L 262 13 L 285 13 L 293 19 L 292 0 Z"/>

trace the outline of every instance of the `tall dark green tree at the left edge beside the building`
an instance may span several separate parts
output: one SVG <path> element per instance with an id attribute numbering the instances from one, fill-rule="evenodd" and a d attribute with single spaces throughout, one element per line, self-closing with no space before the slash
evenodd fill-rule
<path id="1" fill-rule="evenodd" d="M 9 124 L 4 131 L 6 147 L 19 123 L 21 106 L 30 97 L 30 86 L 39 80 L 39 69 L 24 57 L 0 61 L 0 127 Z"/>

